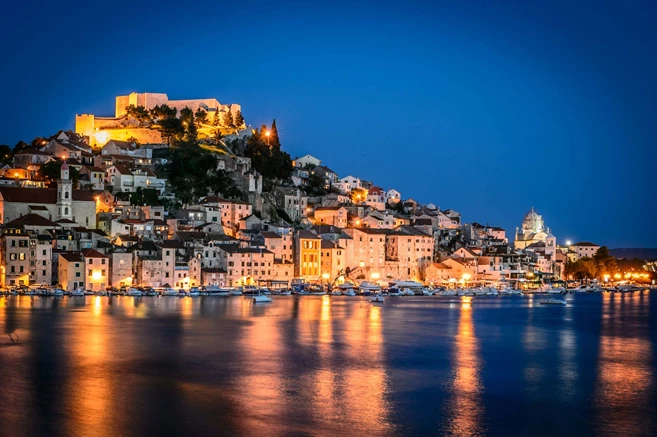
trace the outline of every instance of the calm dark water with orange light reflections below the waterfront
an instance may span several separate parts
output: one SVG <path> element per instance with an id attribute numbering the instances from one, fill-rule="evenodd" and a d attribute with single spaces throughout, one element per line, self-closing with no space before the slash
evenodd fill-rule
<path id="1" fill-rule="evenodd" d="M 657 434 L 657 293 L 0 297 L 0 435 Z"/>

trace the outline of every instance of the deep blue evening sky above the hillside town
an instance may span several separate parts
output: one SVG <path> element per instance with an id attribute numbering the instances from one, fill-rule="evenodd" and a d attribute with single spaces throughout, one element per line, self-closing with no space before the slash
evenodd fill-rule
<path id="1" fill-rule="evenodd" d="M 6 7 L 0 144 L 131 91 L 216 97 L 511 238 L 534 206 L 560 242 L 657 247 L 654 2 L 95 3 Z"/>

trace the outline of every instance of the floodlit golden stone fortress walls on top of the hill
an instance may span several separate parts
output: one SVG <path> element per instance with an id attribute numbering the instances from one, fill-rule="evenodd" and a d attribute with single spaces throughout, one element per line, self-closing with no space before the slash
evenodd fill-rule
<path id="1" fill-rule="evenodd" d="M 219 120 L 227 112 L 233 117 L 242 108 L 236 103 L 221 104 L 217 99 L 191 99 L 169 100 L 163 93 L 130 93 L 127 96 L 117 96 L 115 113 L 113 117 L 100 117 L 94 114 L 79 114 L 75 116 L 75 132 L 89 138 L 89 145 L 100 147 L 109 140 L 127 141 L 134 139 L 141 144 L 162 144 L 162 136 L 157 129 L 139 126 L 139 124 L 126 116 L 126 107 L 129 105 L 143 106 L 150 110 L 158 105 L 167 105 L 176 108 L 178 114 L 185 107 L 196 112 L 202 109 L 208 114 L 208 120 L 214 120 L 218 114 Z"/>

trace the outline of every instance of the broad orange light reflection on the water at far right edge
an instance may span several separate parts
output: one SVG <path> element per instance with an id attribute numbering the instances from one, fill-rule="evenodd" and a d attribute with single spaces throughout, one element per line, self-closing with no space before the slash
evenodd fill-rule
<path id="1" fill-rule="evenodd" d="M 643 333 L 645 337 L 632 332 L 627 320 L 618 314 L 622 311 L 647 318 L 650 298 L 643 293 L 603 293 L 602 296 L 595 388 L 597 431 L 599 435 L 654 435 L 651 410 L 654 399 L 649 390 L 655 375 L 650 337 L 647 332 Z"/>

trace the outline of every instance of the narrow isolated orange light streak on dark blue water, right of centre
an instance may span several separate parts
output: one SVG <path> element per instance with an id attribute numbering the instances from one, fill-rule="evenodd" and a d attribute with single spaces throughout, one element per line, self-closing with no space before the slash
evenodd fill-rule
<path id="1" fill-rule="evenodd" d="M 454 345 L 454 377 L 451 387 L 453 398 L 448 405 L 444 434 L 468 436 L 483 434 L 481 368 L 479 346 L 472 323 L 471 300 L 469 297 L 463 297 Z"/>

